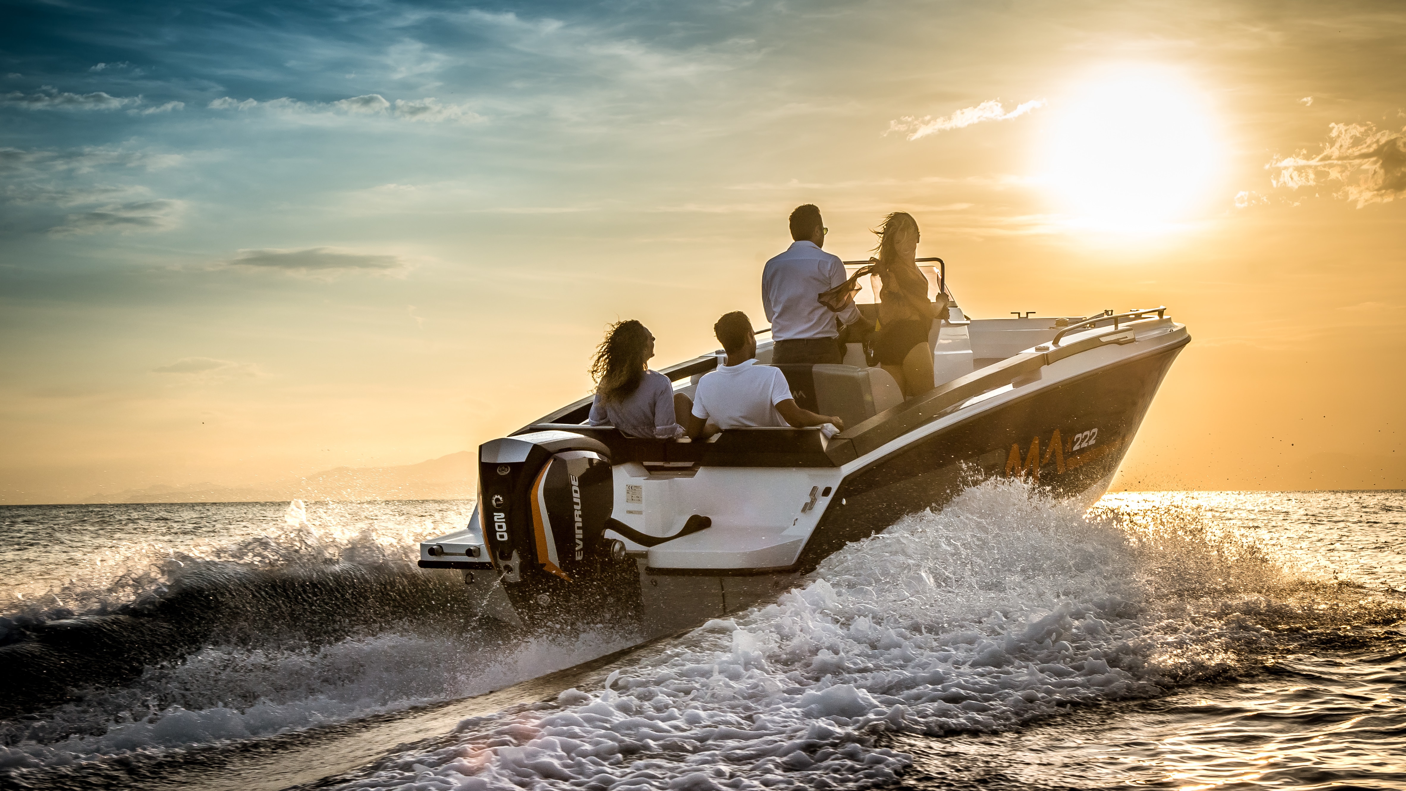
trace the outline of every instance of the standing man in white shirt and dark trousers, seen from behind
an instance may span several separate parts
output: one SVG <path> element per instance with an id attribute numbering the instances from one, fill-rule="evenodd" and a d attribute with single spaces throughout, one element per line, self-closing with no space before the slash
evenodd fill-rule
<path id="1" fill-rule="evenodd" d="M 762 269 L 762 307 L 776 342 L 772 363 L 841 363 L 845 353 L 835 317 L 855 324 L 862 318 L 859 308 L 851 301 L 835 314 L 818 297 L 845 281 L 845 265 L 820 249 L 828 228 L 815 205 L 797 205 L 790 231 L 796 241 Z"/>

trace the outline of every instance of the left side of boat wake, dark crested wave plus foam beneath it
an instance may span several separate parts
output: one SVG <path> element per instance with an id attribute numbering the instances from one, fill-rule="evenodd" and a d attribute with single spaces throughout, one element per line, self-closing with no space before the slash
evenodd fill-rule
<path id="1" fill-rule="evenodd" d="M 440 519 L 467 521 L 461 502 L 434 505 Z M 468 615 L 479 594 L 457 574 L 416 569 L 405 549 L 418 538 L 408 524 L 443 526 L 395 514 L 359 524 L 336 507 L 309 524 L 301 502 L 281 511 L 228 543 L 128 542 L 125 571 L 111 571 L 114 559 L 107 573 L 76 570 L 86 587 L 30 595 L 0 618 L 0 771 L 356 721 L 502 688 L 637 642 L 593 631 L 523 639 Z"/>

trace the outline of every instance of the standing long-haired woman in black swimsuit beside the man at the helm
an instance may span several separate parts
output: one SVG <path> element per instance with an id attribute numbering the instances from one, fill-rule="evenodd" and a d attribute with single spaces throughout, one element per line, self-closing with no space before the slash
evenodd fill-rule
<path id="1" fill-rule="evenodd" d="M 879 366 L 893 376 L 905 398 L 932 390 L 932 348 L 928 331 L 946 307 L 928 301 L 928 279 L 918 272 L 918 222 L 904 211 L 884 218 L 879 234 L 879 258 L 869 259 L 883 283 L 879 290 L 879 325 L 873 338 Z"/>

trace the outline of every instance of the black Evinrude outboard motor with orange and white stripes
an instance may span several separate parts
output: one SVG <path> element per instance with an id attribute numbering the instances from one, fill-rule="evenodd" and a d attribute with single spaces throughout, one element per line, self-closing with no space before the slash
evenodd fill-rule
<path id="1" fill-rule="evenodd" d="M 529 624 L 638 614 L 633 559 L 603 538 L 614 502 L 610 452 L 567 431 L 494 439 L 478 449 L 479 521 L 494 566 Z"/>

